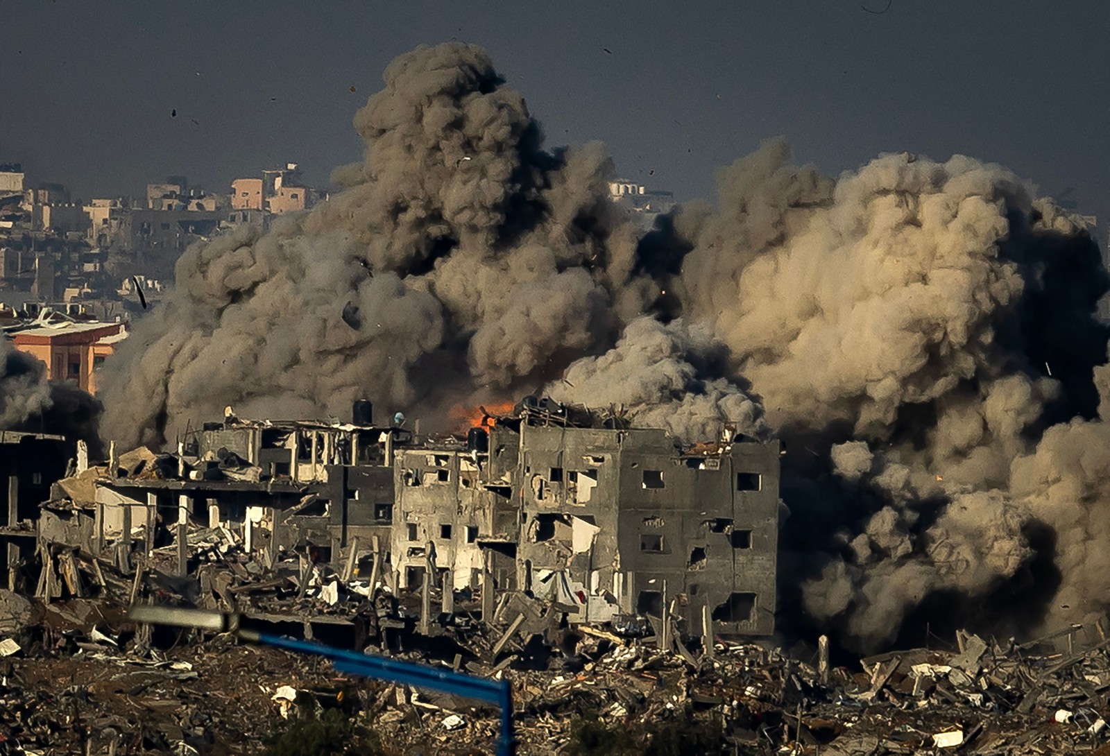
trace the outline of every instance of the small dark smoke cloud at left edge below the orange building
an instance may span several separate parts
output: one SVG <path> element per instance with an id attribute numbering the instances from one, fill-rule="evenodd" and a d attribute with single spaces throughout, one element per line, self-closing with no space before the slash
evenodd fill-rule
<path id="1" fill-rule="evenodd" d="M 89 442 L 100 454 L 101 405 L 77 386 L 47 381 L 47 366 L 0 339 L 0 431 L 56 433 Z"/>

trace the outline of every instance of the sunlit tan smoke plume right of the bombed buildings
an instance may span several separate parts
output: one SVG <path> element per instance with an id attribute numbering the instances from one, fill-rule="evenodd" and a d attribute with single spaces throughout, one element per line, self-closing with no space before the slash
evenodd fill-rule
<path id="1" fill-rule="evenodd" d="M 1031 567 L 1046 524 L 1057 554 L 1066 533 L 1080 553 L 1098 537 L 1074 521 L 1087 504 L 1059 512 L 1061 490 L 1090 497 L 1098 474 L 1074 461 L 1081 475 L 1048 483 L 1071 426 L 1037 446 L 1050 422 L 1093 415 L 1106 361 L 1091 315 L 1107 274 L 1074 220 L 968 158 L 885 155 L 833 181 L 770 142 L 723 172 L 719 210 L 683 209 L 667 235 L 650 248 L 679 258 L 654 261 L 672 310 L 727 344 L 793 451 L 784 587 L 801 582 L 811 617 L 869 647 L 931 596 L 1101 577 L 1083 556 Z M 1050 624 L 1081 618 L 1073 593 Z"/>

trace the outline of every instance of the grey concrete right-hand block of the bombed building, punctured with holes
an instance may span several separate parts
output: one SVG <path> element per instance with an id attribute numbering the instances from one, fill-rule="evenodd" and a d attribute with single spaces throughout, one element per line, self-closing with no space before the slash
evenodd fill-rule
<path id="1" fill-rule="evenodd" d="M 679 621 L 700 634 L 774 629 L 777 441 L 685 454 L 660 430 L 522 423 L 519 579 L 573 619 Z"/>

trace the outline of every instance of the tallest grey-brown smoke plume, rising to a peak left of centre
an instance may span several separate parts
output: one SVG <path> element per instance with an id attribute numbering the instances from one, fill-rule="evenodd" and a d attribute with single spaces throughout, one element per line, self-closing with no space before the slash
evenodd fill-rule
<path id="1" fill-rule="evenodd" d="M 601 147 L 542 149 L 484 51 L 421 48 L 355 114 L 347 187 L 268 234 L 191 248 L 121 350 L 105 434 L 159 443 L 226 404 L 342 415 L 513 395 L 612 344 L 653 286 Z M 445 380 L 448 379 L 450 380 Z"/>

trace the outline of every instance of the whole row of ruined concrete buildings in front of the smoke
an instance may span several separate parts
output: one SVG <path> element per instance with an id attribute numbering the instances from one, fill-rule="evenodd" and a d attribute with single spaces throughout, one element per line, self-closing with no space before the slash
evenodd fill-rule
<path id="1" fill-rule="evenodd" d="M 113 458 L 59 498 L 84 512 L 89 551 L 114 550 L 123 571 L 131 554 L 175 544 L 184 575 L 189 533 L 223 528 L 263 571 L 317 565 L 371 591 L 435 589 L 448 608 L 456 591 L 480 594 L 483 616 L 523 594 L 571 624 L 773 632 L 778 442 L 726 429 L 682 448 L 665 431 L 533 397 L 465 436 L 375 425 L 369 402 L 352 420 L 241 420 L 229 407 L 176 454 Z M 57 502 L 47 508 L 57 516 Z"/>

